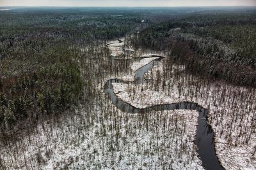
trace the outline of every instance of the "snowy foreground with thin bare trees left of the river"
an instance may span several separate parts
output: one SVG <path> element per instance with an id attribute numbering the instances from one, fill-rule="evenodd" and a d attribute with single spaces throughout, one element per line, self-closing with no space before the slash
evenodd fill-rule
<path id="1" fill-rule="evenodd" d="M 141 115 L 103 105 L 77 110 L 61 124 L 38 125 L 38 134 L 0 150 L 1 163 L 10 169 L 203 169 L 193 144 L 196 111 Z"/>

